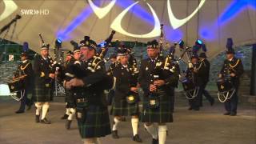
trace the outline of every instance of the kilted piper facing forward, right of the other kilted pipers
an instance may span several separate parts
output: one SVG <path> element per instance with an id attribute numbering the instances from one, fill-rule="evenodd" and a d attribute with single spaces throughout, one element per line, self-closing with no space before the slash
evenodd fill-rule
<path id="1" fill-rule="evenodd" d="M 174 93 L 170 86 L 174 87 L 178 81 L 178 72 L 170 74 L 170 70 L 165 70 L 165 58 L 158 56 L 158 52 L 156 40 L 147 43 L 149 58 L 142 60 L 138 76 L 144 91 L 141 121 L 152 135 L 153 144 L 166 142 L 166 123 L 173 122 L 171 97 Z M 158 123 L 158 130 L 154 123 Z"/>

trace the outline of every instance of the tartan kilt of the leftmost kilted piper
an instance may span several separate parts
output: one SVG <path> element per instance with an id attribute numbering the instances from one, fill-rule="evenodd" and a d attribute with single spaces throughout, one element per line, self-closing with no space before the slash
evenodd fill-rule
<path id="1" fill-rule="evenodd" d="M 50 102 L 53 101 L 53 94 L 50 93 L 51 87 L 46 87 L 36 83 L 34 86 L 34 102 Z"/>

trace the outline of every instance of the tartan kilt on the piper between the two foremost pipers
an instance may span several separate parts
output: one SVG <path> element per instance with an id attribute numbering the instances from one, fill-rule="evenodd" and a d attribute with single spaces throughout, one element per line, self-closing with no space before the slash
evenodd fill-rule
<path id="1" fill-rule="evenodd" d="M 138 102 L 129 104 L 126 99 L 122 99 L 119 102 L 113 101 L 110 114 L 114 116 L 138 115 Z"/>

